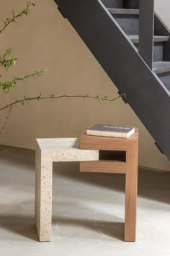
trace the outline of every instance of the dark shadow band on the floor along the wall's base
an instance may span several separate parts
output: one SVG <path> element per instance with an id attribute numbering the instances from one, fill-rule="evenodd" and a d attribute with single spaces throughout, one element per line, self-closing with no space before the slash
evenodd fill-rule
<path id="1" fill-rule="evenodd" d="M 22 155 L 22 157 L 21 157 Z M 35 172 L 35 150 L 25 150 L 0 145 L 1 161 L 22 169 Z M 54 175 L 66 179 L 75 179 L 82 184 L 93 184 L 96 187 L 106 187 L 117 191 L 125 190 L 125 175 L 123 174 L 87 174 L 79 173 L 79 163 L 53 163 Z M 139 168 L 138 196 L 158 202 L 170 203 L 170 172 L 152 171 Z"/>

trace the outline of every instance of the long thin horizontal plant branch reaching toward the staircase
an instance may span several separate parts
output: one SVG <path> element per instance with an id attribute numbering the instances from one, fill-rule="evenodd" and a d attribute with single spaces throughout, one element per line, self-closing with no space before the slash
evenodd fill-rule
<path id="1" fill-rule="evenodd" d="M 0 108 L 0 111 L 6 109 L 6 108 L 10 108 L 16 104 L 22 103 L 22 105 L 24 105 L 25 101 L 40 101 L 40 100 L 48 100 L 48 99 L 57 99 L 57 98 L 90 98 L 90 99 L 95 99 L 98 100 L 100 102 L 102 101 L 115 101 L 118 98 L 123 98 L 125 97 L 125 94 L 121 94 L 121 95 L 117 95 L 115 98 L 108 98 L 107 96 L 104 96 L 103 98 L 97 96 L 91 96 L 91 95 L 68 95 L 68 94 L 64 94 L 64 95 L 50 95 L 50 96 L 37 96 L 37 97 L 24 97 L 22 100 L 16 100 L 2 108 Z"/>

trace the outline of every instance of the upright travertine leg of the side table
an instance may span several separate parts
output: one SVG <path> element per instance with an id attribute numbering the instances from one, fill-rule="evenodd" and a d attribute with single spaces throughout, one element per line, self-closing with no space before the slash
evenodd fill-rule
<path id="1" fill-rule="evenodd" d="M 40 242 L 51 239 L 53 163 L 37 145 L 35 163 L 35 226 Z"/>

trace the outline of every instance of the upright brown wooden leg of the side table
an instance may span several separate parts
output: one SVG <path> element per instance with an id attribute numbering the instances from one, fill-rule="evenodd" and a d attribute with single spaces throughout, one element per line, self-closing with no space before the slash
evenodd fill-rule
<path id="1" fill-rule="evenodd" d="M 128 147 L 125 182 L 125 241 L 135 242 L 138 189 L 138 141 Z"/>

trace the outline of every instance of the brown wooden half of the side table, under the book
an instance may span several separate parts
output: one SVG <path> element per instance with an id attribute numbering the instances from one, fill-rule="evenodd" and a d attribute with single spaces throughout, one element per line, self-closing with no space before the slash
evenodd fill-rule
<path id="1" fill-rule="evenodd" d="M 86 135 L 81 149 L 99 150 L 99 161 L 83 161 L 81 172 L 125 174 L 125 241 L 135 242 L 138 189 L 138 129 L 128 139 Z"/>

